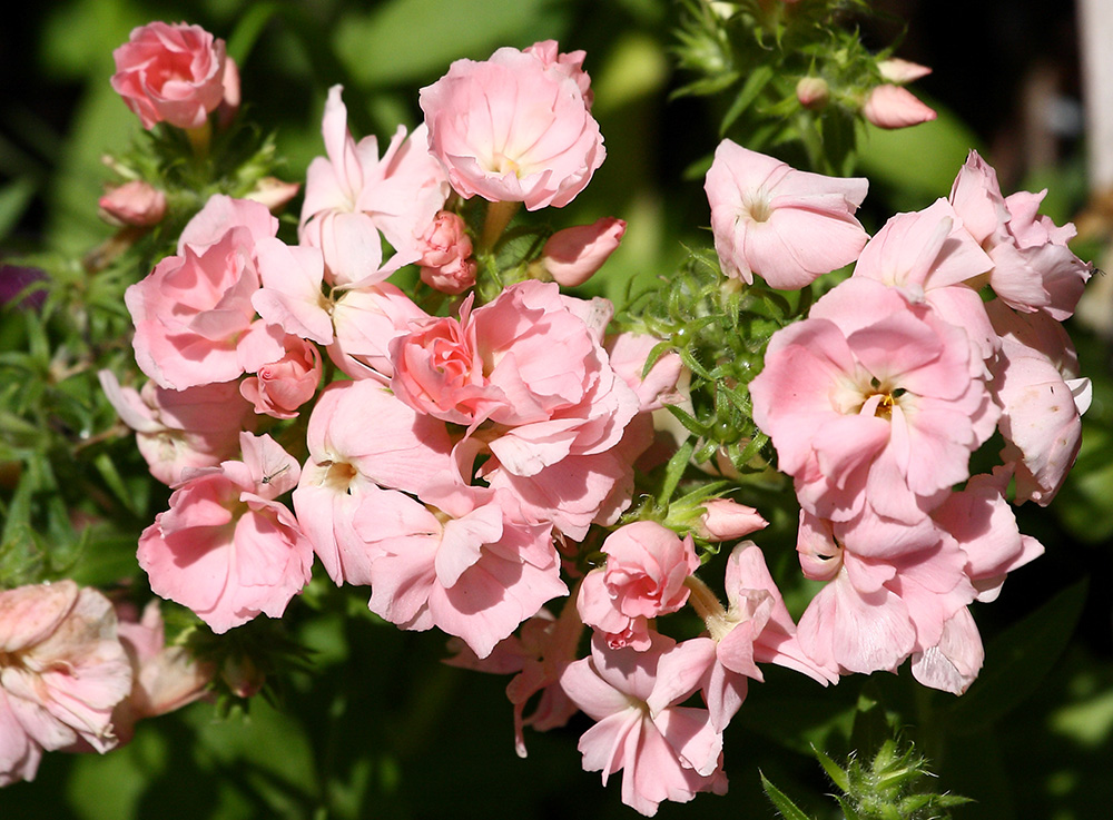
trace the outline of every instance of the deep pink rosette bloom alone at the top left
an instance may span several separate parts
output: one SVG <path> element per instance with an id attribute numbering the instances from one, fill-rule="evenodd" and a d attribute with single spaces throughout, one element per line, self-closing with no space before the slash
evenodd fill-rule
<path id="1" fill-rule="evenodd" d="M 152 22 L 112 52 L 112 88 L 144 128 L 198 128 L 225 98 L 224 40 L 199 26 Z"/>

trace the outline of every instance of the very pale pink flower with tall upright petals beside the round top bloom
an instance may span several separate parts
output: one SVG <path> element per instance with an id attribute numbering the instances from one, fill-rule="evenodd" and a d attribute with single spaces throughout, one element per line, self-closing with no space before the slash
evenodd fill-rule
<path id="1" fill-rule="evenodd" d="M 382 158 L 374 136 L 356 142 L 342 90 L 328 90 L 322 122 L 326 156 L 309 164 L 298 236 L 321 249 L 331 284 L 375 284 L 421 257 L 417 238 L 444 205 L 449 185 L 426 151 L 424 126 L 408 139 L 400 126 Z M 386 264 L 384 238 L 395 251 Z"/>

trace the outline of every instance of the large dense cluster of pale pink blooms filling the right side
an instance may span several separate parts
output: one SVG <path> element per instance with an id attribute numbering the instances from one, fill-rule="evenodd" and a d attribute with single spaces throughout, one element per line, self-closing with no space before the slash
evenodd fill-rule
<path id="1" fill-rule="evenodd" d="M 1090 267 L 1041 199 L 1003 197 L 972 154 L 949 199 L 893 217 L 769 343 L 754 418 L 795 482 L 804 573 L 827 582 L 798 633 L 825 669 L 910 658 L 923 683 L 965 691 L 982 664 L 967 605 L 1043 551 L 1006 490 L 1047 504 L 1078 452 L 1089 382 L 1060 322 Z M 994 432 L 1001 464 L 972 476 Z"/>

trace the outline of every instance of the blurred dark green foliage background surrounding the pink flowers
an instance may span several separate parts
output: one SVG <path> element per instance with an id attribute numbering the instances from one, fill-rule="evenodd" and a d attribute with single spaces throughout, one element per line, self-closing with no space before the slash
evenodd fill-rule
<path id="1" fill-rule="evenodd" d="M 935 71 L 915 90 L 936 122 L 871 131 L 859 174 L 870 178 L 871 233 L 897 210 L 946 196 L 969 148 L 1002 188 L 1050 188 L 1045 213 L 1077 218 L 1087 205 L 1078 53 L 1070 3 L 878 3 L 864 26 L 877 48 Z M 96 200 L 138 122 L 108 85 L 111 51 L 151 20 L 197 23 L 224 37 L 240 66 L 244 113 L 277 135 L 285 178 L 304 179 L 323 152 L 327 88 L 345 86 L 356 136 L 418 121 L 416 91 L 457 58 L 556 39 L 584 49 L 608 159 L 587 194 L 554 218 L 629 221 L 608 276 L 621 300 L 632 277 L 656 277 L 709 244 L 701 178 L 713 150 L 705 102 L 670 99 L 680 7 L 670 0 L 388 0 L 20 4 L 0 29 L 0 254 L 42 247 L 81 254 L 106 236 Z M 1113 78 L 1111 78 L 1113 81 Z M 1042 83 L 1042 85 L 1041 85 Z M 1044 89 L 1056 117 L 1032 130 Z M 1050 89 L 1050 90 L 1048 90 Z M 1045 100 L 1046 101 L 1046 100 Z M 1076 246 L 1100 260 L 1101 233 Z M 1095 277 L 1097 281 L 1101 277 Z M 1113 814 L 1113 383 L 1110 344 L 1076 323 L 1083 373 L 1094 379 L 1078 466 L 1051 510 L 1018 512 L 1047 554 L 977 609 L 987 643 L 983 678 L 962 700 L 909 685 L 908 675 L 845 680 L 831 691 L 770 670 L 727 732 L 726 798 L 662 804 L 660 817 L 771 817 L 760 769 L 818 817 L 837 817 L 805 742 L 823 743 L 853 718 L 860 692 L 907 714 L 940 774 L 939 789 L 974 798 L 957 817 L 1082 820 Z M 443 665 L 443 638 L 398 632 L 366 616 L 358 595 L 292 626 L 315 650 L 278 708 L 220 719 L 209 704 L 147 721 L 106 757 L 47 754 L 33 783 L 0 791 L 0 818 L 607 818 L 634 817 L 617 779 L 580 769 L 587 723 L 512 743 L 504 680 Z M 1040 613 L 1032 615 L 1032 613 Z M 1027 619 L 1027 620 L 1025 620 Z M 1005 693 L 1005 694 L 1002 694 Z"/>

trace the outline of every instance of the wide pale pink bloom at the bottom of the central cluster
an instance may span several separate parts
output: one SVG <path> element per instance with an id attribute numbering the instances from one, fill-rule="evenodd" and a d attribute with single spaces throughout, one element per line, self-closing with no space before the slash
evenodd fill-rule
<path id="1" fill-rule="evenodd" d="M 486 487 L 363 495 L 354 524 L 371 551 L 372 612 L 407 630 L 456 635 L 480 658 L 568 594 L 550 524 L 523 520 Z"/>

